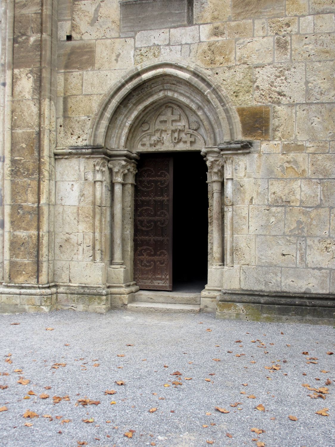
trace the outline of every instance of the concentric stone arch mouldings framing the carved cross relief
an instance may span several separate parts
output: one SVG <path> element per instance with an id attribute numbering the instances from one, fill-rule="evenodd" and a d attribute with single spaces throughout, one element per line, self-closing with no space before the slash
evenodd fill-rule
<path id="1" fill-rule="evenodd" d="M 239 117 L 212 77 L 180 60 L 157 59 L 135 67 L 113 84 L 88 131 L 88 144 L 132 151 L 134 123 L 164 102 L 185 105 L 203 125 L 206 146 L 241 140 Z"/>

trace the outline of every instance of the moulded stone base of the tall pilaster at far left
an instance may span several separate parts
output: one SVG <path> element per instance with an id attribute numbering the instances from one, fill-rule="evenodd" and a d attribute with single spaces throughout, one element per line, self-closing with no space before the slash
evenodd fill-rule
<path id="1" fill-rule="evenodd" d="M 0 313 L 50 312 L 56 308 L 54 284 L 3 284 L 0 287 Z"/>

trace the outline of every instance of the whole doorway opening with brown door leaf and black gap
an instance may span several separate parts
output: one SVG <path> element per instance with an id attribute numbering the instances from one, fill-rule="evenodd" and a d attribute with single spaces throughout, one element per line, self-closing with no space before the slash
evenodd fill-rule
<path id="1" fill-rule="evenodd" d="M 134 212 L 134 281 L 200 292 L 207 282 L 208 192 L 200 152 L 143 154 Z"/>

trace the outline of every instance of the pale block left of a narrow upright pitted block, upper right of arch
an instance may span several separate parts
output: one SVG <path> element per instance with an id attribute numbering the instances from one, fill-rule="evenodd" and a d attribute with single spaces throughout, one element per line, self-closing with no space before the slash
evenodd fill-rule
<path id="1" fill-rule="evenodd" d="M 269 63 L 272 60 L 272 37 L 255 37 L 236 42 L 237 63 Z"/>

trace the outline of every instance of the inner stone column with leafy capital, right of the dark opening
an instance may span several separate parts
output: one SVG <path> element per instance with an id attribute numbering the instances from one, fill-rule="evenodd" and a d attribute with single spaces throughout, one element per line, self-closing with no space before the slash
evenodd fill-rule
<path id="1" fill-rule="evenodd" d="M 222 257 L 222 181 L 223 158 L 218 150 L 207 152 L 209 182 L 213 185 L 213 266 L 223 266 Z"/>

